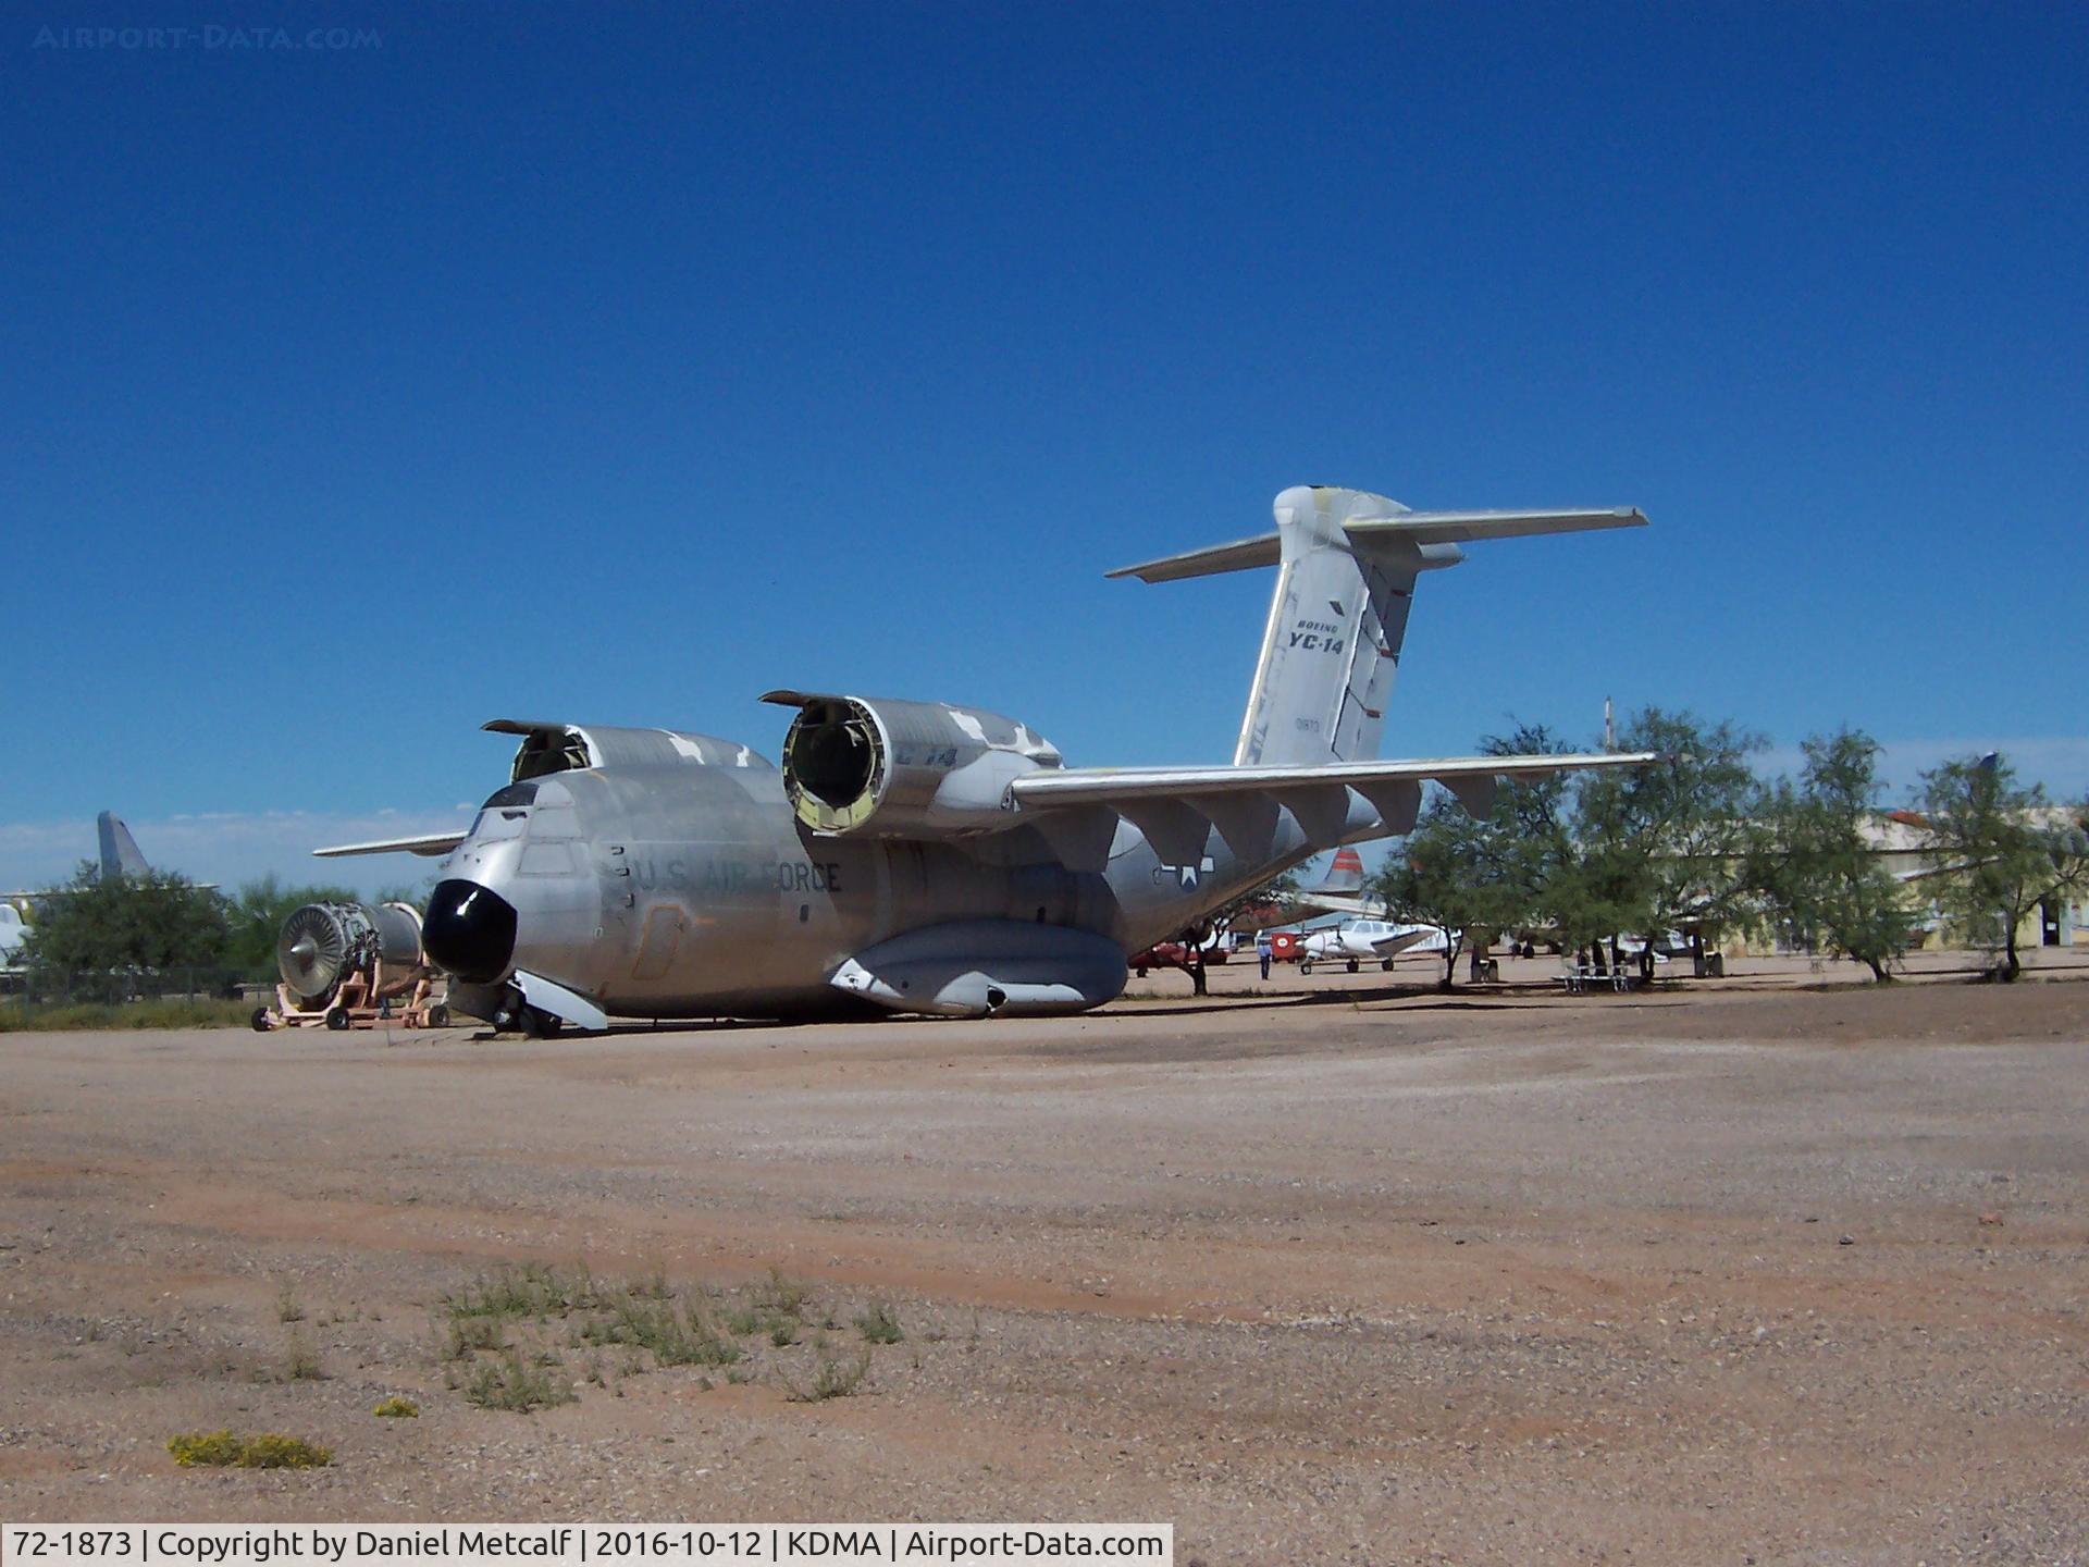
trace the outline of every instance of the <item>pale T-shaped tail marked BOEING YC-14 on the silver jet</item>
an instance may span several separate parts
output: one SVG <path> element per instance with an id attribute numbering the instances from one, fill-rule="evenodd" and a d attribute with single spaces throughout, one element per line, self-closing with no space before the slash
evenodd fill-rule
<path id="1" fill-rule="evenodd" d="M 1168 583 L 1276 566 L 1233 765 L 1318 767 L 1379 754 L 1421 572 L 1456 566 L 1473 539 L 1644 524 L 1634 508 L 1410 512 L 1360 489 L 1295 485 L 1276 497 L 1276 533 L 1109 575 Z"/>

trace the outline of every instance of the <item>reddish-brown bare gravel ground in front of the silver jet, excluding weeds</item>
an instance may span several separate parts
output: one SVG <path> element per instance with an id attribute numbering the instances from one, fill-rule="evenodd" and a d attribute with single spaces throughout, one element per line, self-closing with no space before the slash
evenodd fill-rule
<path id="1" fill-rule="evenodd" d="M 1525 967 L 1153 976 L 1055 1022 L 0 1036 L 0 1519 L 2089 1561 L 2089 984 Z M 526 1262 L 717 1320 L 808 1295 L 731 1366 L 514 1323 L 579 1402 L 476 1408 L 443 1302 Z M 900 1341 L 863 1343 L 877 1302 Z M 165 1452 L 226 1425 L 334 1465 Z"/>

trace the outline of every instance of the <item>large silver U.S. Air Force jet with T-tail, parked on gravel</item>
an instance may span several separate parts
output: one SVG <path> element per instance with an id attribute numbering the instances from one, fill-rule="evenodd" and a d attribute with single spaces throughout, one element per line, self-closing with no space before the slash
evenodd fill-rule
<path id="1" fill-rule="evenodd" d="M 1109 572 L 1276 568 L 1228 767 L 1067 767 L 980 708 L 769 692 L 796 708 L 781 767 L 712 735 L 497 719 L 522 744 L 468 832 L 318 852 L 445 857 L 422 946 L 451 1009 L 497 1028 L 1086 1011 L 1128 953 L 1314 852 L 1412 829 L 1429 779 L 1485 815 L 1500 777 L 1652 761 L 1375 761 L 1423 572 L 1479 539 L 1644 522 L 1295 487 L 1274 533 Z"/>

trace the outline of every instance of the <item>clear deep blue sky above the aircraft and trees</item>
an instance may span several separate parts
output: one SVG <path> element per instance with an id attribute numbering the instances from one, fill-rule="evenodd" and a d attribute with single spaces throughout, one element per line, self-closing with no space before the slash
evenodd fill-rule
<path id="1" fill-rule="evenodd" d="M 1427 579 L 1391 752 L 1613 696 L 2081 794 L 2085 71 L 2058 4 L 15 8 L 0 882 L 100 806 L 303 878 L 483 719 L 773 752 L 773 685 L 1222 761 L 1268 583 L 1101 572 L 1291 483 L 1654 522 Z"/>

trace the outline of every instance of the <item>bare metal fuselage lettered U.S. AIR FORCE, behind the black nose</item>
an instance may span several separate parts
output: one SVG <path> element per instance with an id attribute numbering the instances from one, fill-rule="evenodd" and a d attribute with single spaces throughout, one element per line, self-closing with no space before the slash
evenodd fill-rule
<path id="1" fill-rule="evenodd" d="M 775 767 L 719 750 L 737 765 L 608 765 L 510 786 L 443 878 L 499 892 L 516 911 L 514 967 L 610 1015 L 771 1018 L 861 1011 L 836 969 L 905 932 L 1011 921 L 1139 951 L 1272 869 L 1241 865 L 1218 836 L 1195 865 L 1164 865 L 1128 823 L 1103 871 L 1067 869 L 1028 832 L 819 836 Z M 1283 861 L 1310 852 L 1297 836 Z"/>

